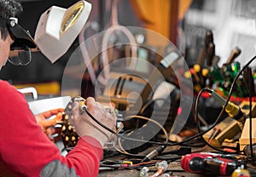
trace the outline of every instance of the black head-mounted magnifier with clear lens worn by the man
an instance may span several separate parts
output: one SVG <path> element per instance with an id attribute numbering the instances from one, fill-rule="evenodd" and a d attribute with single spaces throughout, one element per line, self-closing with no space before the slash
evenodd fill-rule
<path id="1" fill-rule="evenodd" d="M 27 65 L 32 59 L 31 49 L 37 48 L 29 32 L 18 25 L 18 19 L 14 17 L 9 19 L 0 18 L 0 26 L 6 27 L 10 36 L 14 39 L 10 50 L 15 50 L 16 54 L 9 56 L 9 62 L 15 66 Z"/>

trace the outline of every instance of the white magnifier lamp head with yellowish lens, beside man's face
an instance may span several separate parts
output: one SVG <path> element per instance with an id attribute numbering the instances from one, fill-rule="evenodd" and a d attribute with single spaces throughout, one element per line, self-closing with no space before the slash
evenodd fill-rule
<path id="1" fill-rule="evenodd" d="M 89 17 L 91 4 L 74 3 L 68 9 L 52 6 L 38 21 L 35 43 L 52 63 L 67 52 Z"/>

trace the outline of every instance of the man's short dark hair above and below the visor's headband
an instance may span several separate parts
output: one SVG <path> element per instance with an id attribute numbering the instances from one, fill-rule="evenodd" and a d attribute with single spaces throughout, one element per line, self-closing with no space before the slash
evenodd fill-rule
<path id="1" fill-rule="evenodd" d="M 20 3 L 14 0 L 0 0 L 0 17 L 3 19 L 9 19 L 10 17 L 16 17 L 22 11 Z M 0 27 L 1 38 L 6 39 L 9 35 L 9 31 L 6 27 Z"/>

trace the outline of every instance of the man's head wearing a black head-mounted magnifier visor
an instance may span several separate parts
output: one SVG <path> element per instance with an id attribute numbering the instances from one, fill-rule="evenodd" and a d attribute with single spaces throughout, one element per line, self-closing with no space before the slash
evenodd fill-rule
<path id="1" fill-rule="evenodd" d="M 32 58 L 30 49 L 37 47 L 29 32 L 18 24 L 16 17 L 21 11 L 20 3 L 14 0 L 0 0 L 0 67 L 6 63 L 9 50 L 16 51 L 16 55 L 9 57 L 12 64 L 28 64 Z"/>

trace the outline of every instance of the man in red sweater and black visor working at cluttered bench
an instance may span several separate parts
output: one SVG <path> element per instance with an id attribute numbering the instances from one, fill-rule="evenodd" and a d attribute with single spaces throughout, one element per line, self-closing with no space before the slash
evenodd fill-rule
<path id="1" fill-rule="evenodd" d="M 35 47 L 32 37 L 13 19 L 21 10 L 20 3 L 14 0 L 0 0 L 0 68 L 7 62 L 10 49 Z M 101 123 L 115 128 L 115 117 L 101 104 L 93 98 L 85 103 Z M 102 146 L 111 134 L 87 114 L 81 115 L 79 103 L 74 105 L 72 122 L 81 138 L 67 157 L 62 157 L 38 125 L 25 97 L 0 80 L 0 176 L 96 176 Z"/>

